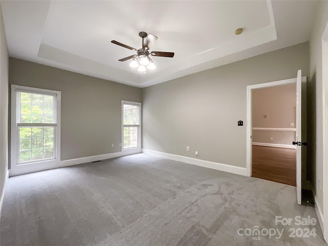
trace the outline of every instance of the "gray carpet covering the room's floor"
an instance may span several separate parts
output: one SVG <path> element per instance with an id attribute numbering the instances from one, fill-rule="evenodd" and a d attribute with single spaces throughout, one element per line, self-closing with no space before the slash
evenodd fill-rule
<path id="1" fill-rule="evenodd" d="M 137 154 L 9 178 L 1 245 L 326 245 L 318 222 L 275 226 L 275 216 L 317 220 L 295 187 Z M 256 226 L 260 238 L 238 235 Z M 292 238 L 293 228 L 317 235 Z"/>

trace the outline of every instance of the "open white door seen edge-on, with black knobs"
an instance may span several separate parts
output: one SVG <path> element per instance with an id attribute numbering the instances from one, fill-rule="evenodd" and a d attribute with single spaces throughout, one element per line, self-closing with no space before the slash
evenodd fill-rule
<path id="1" fill-rule="evenodd" d="M 297 71 L 296 81 L 296 190 L 297 203 L 302 203 L 302 70 Z"/>

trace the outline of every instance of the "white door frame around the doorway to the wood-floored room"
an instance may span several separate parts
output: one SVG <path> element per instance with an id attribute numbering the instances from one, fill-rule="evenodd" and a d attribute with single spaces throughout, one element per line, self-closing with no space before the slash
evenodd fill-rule
<path id="1" fill-rule="evenodd" d="M 296 84 L 297 78 L 289 78 L 283 80 L 272 81 L 268 83 L 247 86 L 247 105 L 246 105 L 246 173 L 252 176 L 252 90 Z M 306 76 L 302 77 L 302 83 L 306 82 Z"/>

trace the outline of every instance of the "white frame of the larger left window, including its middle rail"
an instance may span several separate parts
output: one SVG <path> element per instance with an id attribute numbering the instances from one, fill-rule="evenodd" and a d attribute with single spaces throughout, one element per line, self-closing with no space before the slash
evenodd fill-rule
<path id="1" fill-rule="evenodd" d="M 43 124 L 35 123 L 33 126 L 27 123 L 18 123 L 17 120 L 17 92 L 27 92 L 35 94 L 44 94 L 55 96 L 56 100 L 56 123 L 55 124 Z M 58 165 L 60 163 L 60 91 L 53 91 L 47 89 L 32 88 L 26 86 L 11 85 L 11 169 L 24 169 L 28 172 L 33 172 L 34 167 Z M 53 157 L 39 160 L 31 160 L 19 162 L 19 129 L 21 127 L 53 127 L 54 128 L 54 147 Z M 29 171 L 31 170 L 31 171 Z"/>

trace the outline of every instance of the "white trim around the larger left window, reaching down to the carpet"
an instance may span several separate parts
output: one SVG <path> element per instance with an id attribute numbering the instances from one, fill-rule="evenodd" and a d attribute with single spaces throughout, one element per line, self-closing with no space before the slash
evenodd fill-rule
<path id="1" fill-rule="evenodd" d="M 37 160 L 37 161 L 29 161 L 26 163 L 19 163 L 17 165 L 17 153 L 18 153 L 18 134 L 17 134 L 17 123 L 16 123 L 16 91 L 26 91 L 30 93 L 40 93 L 40 94 L 50 94 L 56 95 L 56 118 L 57 118 L 57 126 L 55 128 L 55 139 L 54 139 L 54 158 L 45 159 L 45 160 Z M 61 92 L 60 91 L 52 91 L 46 89 L 32 88 L 26 86 L 17 86 L 11 85 L 11 153 L 10 153 L 10 176 L 20 175 L 25 173 L 37 172 L 41 169 L 45 169 L 45 167 L 55 168 L 60 165 L 60 101 L 61 101 Z M 19 124 L 22 125 L 22 124 Z M 23 124 L 24 125 L 24 124 Z M 43 125 L 43 124 L 39 124 Z M 48 124 L 47 124 L 48 125 Z M 41 167 L 41 168 L 40 168 Z"/>

